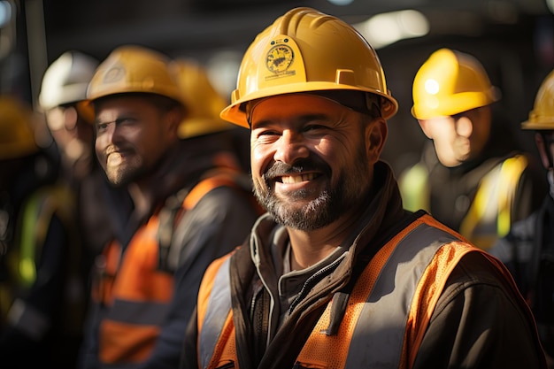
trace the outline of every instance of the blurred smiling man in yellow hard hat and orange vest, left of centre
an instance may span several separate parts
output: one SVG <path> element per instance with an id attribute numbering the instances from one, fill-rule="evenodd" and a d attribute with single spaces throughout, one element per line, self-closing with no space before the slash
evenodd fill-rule
<path id="1" fill-rule="evenodd" d="M 176 367 L 206 266 L 242 243 L 258 215 L 250 178 L 219 135 L 227 125 L 189 106 L 219 104 L 196 73 L 127 45 L 88 86 L 96 155 L 135 207 L 96 260 L 83 368 Z"/>

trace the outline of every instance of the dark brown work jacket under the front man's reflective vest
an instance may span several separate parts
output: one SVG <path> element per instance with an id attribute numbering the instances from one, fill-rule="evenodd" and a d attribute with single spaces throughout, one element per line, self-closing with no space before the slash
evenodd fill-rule
<path id="1" fill-rule="evenodd" d="M 354 232 L 341 245 L 348 252 L 314 272 L 288 311 L 279 311 L 278 292 L 283 254 L 277 242 L 286 237 L 286 230 L 268 217 L 258 219 L 250 234 L 250 242 L 235 250 L 230 258 L 229 288 L 238 363 L 227 363 L 225 367 L 296 367 L 296 357 L 327 303 L 334 299 L 349 304 L 351 283 L 355 282 L 352 276 L 358 275 L 360 265 L 363 268 L 385 242 L 394 239 L 412 222 L 413 215 L 402 209 L 389 166 L 382 162 L 376 165 L 374 178 L 375 196 L 366 205 L 367 210 Z M 462 236 L 458 235 L 458 238 L 464 240 Z M 437 239 L 437 242 L 444 241 Z M 545 367 L 535 321 L 527 304 L 504 266 L 500 262 L 491 263 L 490 258 L 481 252 L 472 252 L 461 258 L 458 264 L 451 265 L 450 276 L 420 338 L 419 350 L 413 353 L 413 368 Z M 394 275 L 381 278 L 389 280 L 386 284 L 390 288 L 397 287 Z M 204 283 L 209 288 L 213 280 L 206 279 Z M 204 305 L 203 299 L 198 308 L 204 309 Z M 220 311 L 218 319 L 225 319 L 226 313 Z M 285 317 L 282 324 L 281 316 Z M 331 312 L 331 333 L 342 319 L 341 313 Z M 200 324 L 203 325 L 201 329 Z M 198 350 L 205 348 L 197 347 L 198 332 L 211 329 L 214 327 L 210 320 L 190 321 L 181 368 L 201 367 L 197 362 Z M 347 337 L 337 336 L 336 339 L 341 341 Z M 382 335 L 365 338 L 380 339 Z M 337 344 L 337 347 L 341 345 Z M 342 350 L 348 350 L 348 344 L 342 347 Z M 322 367 L 335 367 L 323 357 L 320 360 Z M 395 363 L 399 361 L 395 360 Z M 383 362 L 380 367 L 396 365 Z"/>

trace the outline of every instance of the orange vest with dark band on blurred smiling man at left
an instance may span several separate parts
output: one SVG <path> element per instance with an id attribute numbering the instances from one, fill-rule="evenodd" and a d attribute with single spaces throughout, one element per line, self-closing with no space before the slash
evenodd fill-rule
<path id="1" fill-rule="evenodd" d="M 181 201 L 180 211 L 192 209 L 213 188 L 239 187 L 231 173 L 205 178 Z M 103 251 L 104 265 L 92 289 L 97 304 L 109 306 L 99 327 L 99 360 L 104 364 L 140 363 L 150 356 L 173 296 L 173 272 L 162 260 L 170 255 L 160 246 L 162 211 L 152 215 L 127 245 L 111 242 Z M 181 215 L 177 214 L 177 215 Z M 178 218 L 178 217 L 177 217 Z M 162 249 L 162 250 L 160 250 Z"/>

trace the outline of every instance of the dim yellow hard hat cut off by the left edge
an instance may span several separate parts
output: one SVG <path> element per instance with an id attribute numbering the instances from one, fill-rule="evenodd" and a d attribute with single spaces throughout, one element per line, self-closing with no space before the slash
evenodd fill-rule
<path id="1" fill-rule="evenodd" d="M 0 96 L 0 160 L 23 158 L 36 151 L 33 111 L 11 96 Z"/>

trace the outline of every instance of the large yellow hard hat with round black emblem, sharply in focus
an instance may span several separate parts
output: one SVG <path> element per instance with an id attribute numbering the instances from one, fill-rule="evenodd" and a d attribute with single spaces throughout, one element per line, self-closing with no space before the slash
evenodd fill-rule
<path id="1" fill-rule="evenodd" d="M 265 28 L 242 58 L 237 88 L 221 118 L 249 127 L 244 104 L 294 92 L 348 89 L 381 96 L 381 115 L 398 110 L 381 62 L 364 37 L 341 19 L 293 9 Z"/>

